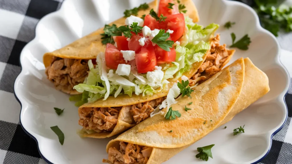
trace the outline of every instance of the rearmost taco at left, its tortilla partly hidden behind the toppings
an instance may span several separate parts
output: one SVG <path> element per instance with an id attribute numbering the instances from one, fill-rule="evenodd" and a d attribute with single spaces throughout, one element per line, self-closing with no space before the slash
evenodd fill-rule
<path id="1" fill-rule="evenodd" d="M 156 9 L 157 6 L 157 0 L 155 0 L 148 4 L 147 9 L 138 11 L 137 16 L 148 14 L 150 9 Z M 112 25 L 122 26 L 125 20 L 126 18 L 122 17 L 106 25 L 105 28 L 100 28 L 61 49 L 45 53 L 43 62 L 46 67 L 46 75 L 54 83 L 56 89 L 67 94 L 80 94 L 73 87 L 83 83 L 88 76 L 88 60 L 96 59 L 98 53 L 105 51 L 106 46 L 102 42 L 104 35 L 101 35 L 106 33 L 104 29 Z"/>

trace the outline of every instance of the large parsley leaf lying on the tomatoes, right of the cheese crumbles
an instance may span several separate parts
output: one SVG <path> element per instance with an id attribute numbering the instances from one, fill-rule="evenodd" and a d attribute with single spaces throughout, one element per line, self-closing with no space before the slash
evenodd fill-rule
<path id="1" fill-rule="evenodd" d="M 152 43 L 157 44 L 160 48 L 164 49 L 165 51 L 170 51 L 170 48 L 173 47 L 172 40 L 166 40 L 169 38 L 169 32 L 164 33 L 165 30 L 159 30 L 158 34 L 151 40 Z"/>

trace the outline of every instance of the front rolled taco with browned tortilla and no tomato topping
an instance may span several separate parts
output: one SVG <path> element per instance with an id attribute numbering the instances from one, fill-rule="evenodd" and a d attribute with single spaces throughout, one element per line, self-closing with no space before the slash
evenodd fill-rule
<path id="1" fill-rule="evenodd" d="M 171 105 L 180 117 L 166 120 L 168 108 L 164 108 L 111 140 L 106 149 L 109 157 L 103 162 L 162 163 L 264 96 L 270 90 L 268 83 L 267 75 L 248 58 L 238 59 L 195 87 L 192 98 L 180 96 Z M 185 105 L 190 110 L 185 111 Z"/>

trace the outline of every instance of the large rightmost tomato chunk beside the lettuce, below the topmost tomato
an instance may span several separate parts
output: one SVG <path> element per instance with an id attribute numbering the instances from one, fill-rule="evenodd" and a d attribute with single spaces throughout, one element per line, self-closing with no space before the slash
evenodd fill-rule
<path id="1" fill-rule="evenodd" d="M 159 27 L 164 30 L 173 30 L 171 39 L 177 41 L 185 31 L 185 18 L 183 14 L 166 15 L 165 22 L 159 23 Z"/>

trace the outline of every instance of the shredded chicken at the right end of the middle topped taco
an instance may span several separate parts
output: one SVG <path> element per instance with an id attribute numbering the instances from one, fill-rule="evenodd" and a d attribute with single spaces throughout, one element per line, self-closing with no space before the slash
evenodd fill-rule
<path id="1" fill-rule="evenodd" d="M 189 80 L 190 86 L 200 84 L 222 69 L 221 65 L 228 59 L 230 54 L 226 49 L 226 44 L 220 45 L 219 41 L 220 35 L 217 34 L 217 36 L 213 38 L 211 49 L 207 54 L 206 60 Z"/>

